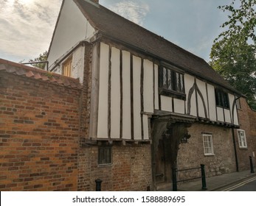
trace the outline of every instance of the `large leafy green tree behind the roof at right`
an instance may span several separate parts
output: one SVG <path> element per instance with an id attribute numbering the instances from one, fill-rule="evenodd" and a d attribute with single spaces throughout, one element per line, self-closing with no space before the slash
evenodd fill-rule
<path id="1" fill-rule="evenodd" d="M 210 65 L 256 109 L 256 0 L 240 0 L 238 8 L 237 2 L 218 7 L 231 14 L 221 26 L 228 28 L 214 41 Z"/>

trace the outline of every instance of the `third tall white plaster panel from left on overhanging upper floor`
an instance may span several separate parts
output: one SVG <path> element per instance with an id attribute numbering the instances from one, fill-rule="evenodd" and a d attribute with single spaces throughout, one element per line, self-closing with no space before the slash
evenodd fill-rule
<path id="1" fill-rule="evenodd" d="M 131 54 L 122 51 L 122 138 L 131 139 Z"/>

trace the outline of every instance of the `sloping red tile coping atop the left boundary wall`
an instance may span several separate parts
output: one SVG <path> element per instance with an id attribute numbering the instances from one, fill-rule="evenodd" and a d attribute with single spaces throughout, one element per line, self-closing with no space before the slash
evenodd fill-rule
<path id="1" fill-rule="evenodd" d="M 7 60 L 0 59 L 0 72 L 7 72 L 30 79 L 37 79 L 42 82 L 49 82 L 56 85 L 61 85 L 69 88 L 82 88 L 78 79 L 65 77 L 60 74 L 54 74 L 49 71 L 44 71 L 39 68 L 32 68 L 27 65 L 13 63 Z"/>

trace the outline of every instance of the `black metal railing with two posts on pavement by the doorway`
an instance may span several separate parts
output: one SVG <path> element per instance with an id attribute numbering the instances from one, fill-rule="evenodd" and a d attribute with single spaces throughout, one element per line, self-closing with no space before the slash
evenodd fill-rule
<path id="1" fill-rule="evenodd" d="M 189 178 L 189 179 L 185 179 L 185 180 L 177 180 L 177 174 L 179 171 L 190 171 L 190 170 L 194 170 L 194 169 L 199 169 L 201 168 L 201 176 L 200 177 L 193 177 L 193 178 Z M 178 182 L 184 182 L 184 181 L 188 181 L 188 180 L 196 180 L 196 179 L 200 179 L 201 178 L 201 182 L 202 182 L 202 190 L 207 190 L 207 182 L 206 182 L 206 176 L 205 176 L 205 170 L 204 170 L 204 165 L 201 164 L 200 167 L 197 168 L 185 168 L 185 169 L 177 169 L 177 168 L 172 168 L 173 170 L 173 191 L 178 191 L 177 188 L 177 183 Z"/>

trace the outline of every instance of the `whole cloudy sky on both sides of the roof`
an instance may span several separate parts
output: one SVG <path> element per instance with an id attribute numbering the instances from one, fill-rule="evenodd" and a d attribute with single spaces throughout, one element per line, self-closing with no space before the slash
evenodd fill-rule
<path id="1" fill-rule="evenodd" d="M 72 0 L 66 0 L 72 1 Z M 231 0 L 100 0 L 100 4 L 210 60 Z M 49 49 L 62 0 L 0 0 L 0 58 L 24 62 Z"/>

